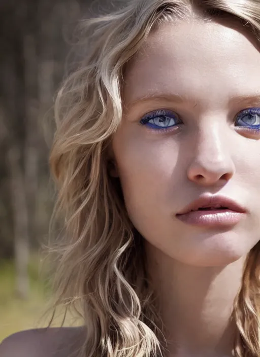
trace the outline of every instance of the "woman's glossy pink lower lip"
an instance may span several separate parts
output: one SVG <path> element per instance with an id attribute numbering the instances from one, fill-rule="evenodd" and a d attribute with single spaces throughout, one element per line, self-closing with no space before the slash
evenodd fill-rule
<path id="1" fill-rule="evenodd" d="M 176 217 L 187 224 L 194 226 L 231 226 L 240 222 L 244 213 L 229 209 L 198 210 L 176 215 Z"/>

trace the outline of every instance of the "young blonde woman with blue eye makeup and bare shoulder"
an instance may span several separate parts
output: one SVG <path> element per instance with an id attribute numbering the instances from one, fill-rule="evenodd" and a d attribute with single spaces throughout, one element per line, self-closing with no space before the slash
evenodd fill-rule
<path id="1" fill-rule="evenodd" d="M 1 357 L 259 356 L 259 1 L 131 0 L 83 27 L 50 163 L 55 306 L 85 324 Z"/>

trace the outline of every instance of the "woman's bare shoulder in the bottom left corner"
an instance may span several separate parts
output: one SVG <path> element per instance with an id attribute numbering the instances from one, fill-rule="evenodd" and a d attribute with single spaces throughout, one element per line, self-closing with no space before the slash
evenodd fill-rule
<path id="1" fill-rule="evenodd" d="M 17 332 L 0 344 L 1 357 L 77 357 L 84 343 L 83 327 Z"/>

